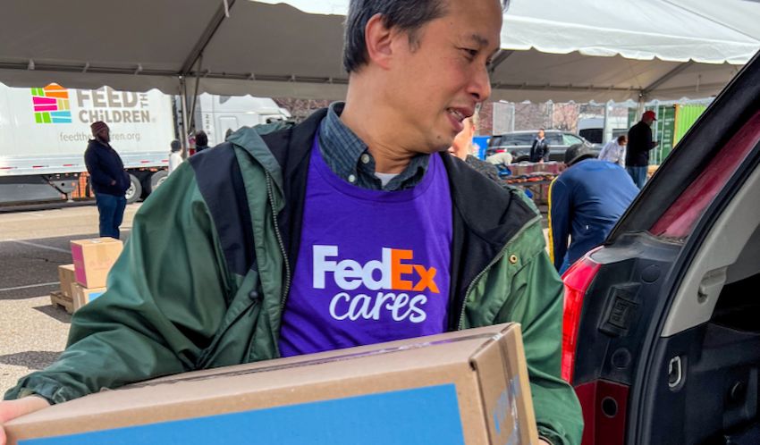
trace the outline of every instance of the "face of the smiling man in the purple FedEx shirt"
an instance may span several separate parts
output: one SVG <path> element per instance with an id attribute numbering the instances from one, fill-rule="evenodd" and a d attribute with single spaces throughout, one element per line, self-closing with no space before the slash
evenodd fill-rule
<path id="1" fill-rule="evenodd" d="M 449 0 L 446 14 L 406 36 L 388 71 L 385 97 L 399 113 L 398 143 L 421 153 L 445 150 L 463 121 L 491 94 L 486 66 L 500 44 L 498 0 Z"/>

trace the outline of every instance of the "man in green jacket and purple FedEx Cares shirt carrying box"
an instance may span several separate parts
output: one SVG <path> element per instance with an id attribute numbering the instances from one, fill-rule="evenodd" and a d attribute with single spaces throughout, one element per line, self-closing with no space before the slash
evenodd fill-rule
<path id="1" fill-rule="evenodd" d="M 157 375 L 514 321 L 543 443 L 579 443 L 540 215 L 442 153 L 490 94 L 501 7 L 352 0 L 345 104 L 238 130 L 173 172 L 69 347 L 6 394 L 30 398 L 0 418 Z M 418 267 L 350 272 L 393 258 Z"/>

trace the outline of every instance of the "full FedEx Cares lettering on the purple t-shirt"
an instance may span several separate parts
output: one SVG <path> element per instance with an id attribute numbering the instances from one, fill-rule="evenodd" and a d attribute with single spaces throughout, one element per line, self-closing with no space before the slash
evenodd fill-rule
<path id="1" fill-rule="evenodd" d="M 337 288 L 330 296 L 335 320 L 380 320 L 422 323 L 428 299 L 442 296 L 435 267 L 416 264 L 414 251 L 382 248 L 379 257 L 359 264 L 342 258 L 337 246 L 313 246 L 313 288 Z"/>

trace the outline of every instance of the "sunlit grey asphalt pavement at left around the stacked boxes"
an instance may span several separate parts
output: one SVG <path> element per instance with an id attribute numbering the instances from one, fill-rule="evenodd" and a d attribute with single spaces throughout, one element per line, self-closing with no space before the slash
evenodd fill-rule
<path id="1" fill-rule="evenodd" d="M 138 208 L 127 206 L 122 239 Z M 97 238 L 95 206 L 0 213 L 0 395 L 63 351 L 72 317 L 49 294 L 58 266 L 72 263 L 70 241 L 88 238 Z"/>

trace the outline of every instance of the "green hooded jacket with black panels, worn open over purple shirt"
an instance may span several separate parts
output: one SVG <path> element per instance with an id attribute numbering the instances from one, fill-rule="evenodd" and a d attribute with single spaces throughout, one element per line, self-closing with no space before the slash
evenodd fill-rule
<path id="1" fill-rule="evenodd" d="M 183 163 L 135 215 L 106 294 L 73 316 L 61 357 L 5 398 L 34 393 L 59 403 L 278 357 L 308 153 L 324 115 L 286 130 L 239 130 Z M 578 444 L 578 399 L 560 378 L 562 282 L 540 215 L 519 192 L 442 159 L 453 207 L 449 329 L 521 323 L 539 434 Z"/>

